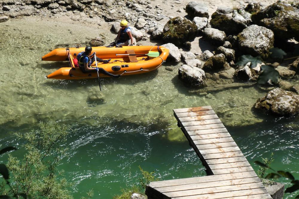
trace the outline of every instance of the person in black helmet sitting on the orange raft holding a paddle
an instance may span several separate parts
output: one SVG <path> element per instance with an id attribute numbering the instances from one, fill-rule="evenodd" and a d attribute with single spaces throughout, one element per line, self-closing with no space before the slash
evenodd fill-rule
<path id="1" fill-rule="evenodd" d="M 91 54 L 92 48 L 91 46 L 86 46 L 85 48 L 85 52 L 80 52 L 77 55 L 77 60 L 79 63 L 79 67 L 82 70 L 83 73 L 90 73 L 90 72 L 96 72 L 99 71 L 100 73 L 103 73 L 105 75 L 108 75 L 110 77 L 120 77 L 120 75 L 114 75 L 112 73 L 109 73 L 108 71 L 106 71 L 103 68 L 91 68 L 91 64 L 94 63 L 95 61 L 95 57 L 94 54 L 91 55 L 91 57 L 89 57 L 89 55 Z M 109 63 L 109 61 L 111 60 L 111 58 L 109 60 L 103 60 L 99 57 L 97 57 L 97 61 L 98 62 L 103 62 L 103 63 Z"/>

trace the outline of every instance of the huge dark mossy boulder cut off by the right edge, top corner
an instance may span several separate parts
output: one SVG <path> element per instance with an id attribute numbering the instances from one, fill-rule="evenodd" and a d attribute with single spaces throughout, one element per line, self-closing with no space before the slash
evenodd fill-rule
<path id="1" fill-rule="evenodd" d="M 274 3 L 252 14 L 255 24 L 271 29 L 275 37 L 299 39 L 299 10 L 290 4 Z"/>

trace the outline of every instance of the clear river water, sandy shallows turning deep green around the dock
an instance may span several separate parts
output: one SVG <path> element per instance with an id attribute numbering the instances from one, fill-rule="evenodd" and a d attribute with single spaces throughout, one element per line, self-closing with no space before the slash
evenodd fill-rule
<path id="1" fill-rule="evenodd" d="M 251 107 L 266 91 L 252 87 L 189 94 L 178 80 L 179 66 L 103 79 L 102 92 L 96 79 L 45 78 L 66 63 L 42 62 L 42 55 L 57 44 L 85 42 L 103 32 L 72 20 L 26 17 L 0 23 L 0 147 L 21 144 L 11 131 L 29 131 L 40 120 L 70 124 L 78 130 L 65 143 L 70 150 L 60 169 L 74 183 L 74 197 L 93 189 L 95 198 L 112 198 L 120 187 L 138 181 L 139 165 L 161 180 L 205 175 L 172 109 L 211 105 L 255 170 L 255 160 L 274 152 L 272 167 L 299 178 L 298 116 L 256 115 Z M 107 43 L 113 37 L 107 36 Z M 94 95 L 100 100 L 91 100 Z"/>

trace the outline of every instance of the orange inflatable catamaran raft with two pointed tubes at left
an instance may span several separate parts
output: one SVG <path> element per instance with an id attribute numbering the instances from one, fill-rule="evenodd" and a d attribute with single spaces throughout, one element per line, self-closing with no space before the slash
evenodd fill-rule
<path id="1" fill-rule="evenodd" d="M 57 48 L 42 57 L 44 61 L 69 61 L 70 67 L 63 67 L 49 74 L 54 79 L 97 78 L 97 73 L 83 73 L 74 64 L 74 57 L 85 48 Z M 166 60 L 169 50 L 163 46 L 107 46 L 93 47 L 92 52 L 101 59 L 110 59 L 109 63 L 97 63 L 98 67 L 112 74 L 131 75 L 146 73 L 160 67 Z M 76 60 L 75 60 L 76 61 Z M 96 67 L 95 62 L 91 67 Z M 100 77 L 109 77 L 102 73 Z"/>

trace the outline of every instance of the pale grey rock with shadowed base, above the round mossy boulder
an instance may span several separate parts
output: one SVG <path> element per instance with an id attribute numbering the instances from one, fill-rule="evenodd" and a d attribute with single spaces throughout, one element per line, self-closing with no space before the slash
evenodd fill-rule
<path id="1" fill-rule="evenodd" d="M 186 6 L 186 12 L 190 18 L 206 17 L 209 18 L 208 6 L 202 2 L 190 1 Z"/>

